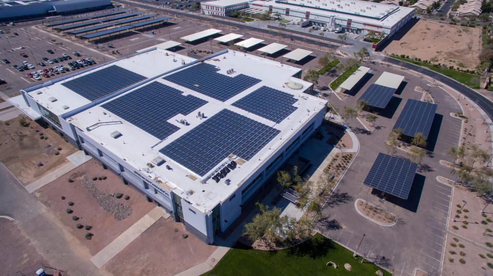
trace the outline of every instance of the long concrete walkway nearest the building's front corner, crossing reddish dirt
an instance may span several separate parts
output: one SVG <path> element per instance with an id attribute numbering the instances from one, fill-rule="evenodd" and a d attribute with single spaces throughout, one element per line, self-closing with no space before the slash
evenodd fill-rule
<path id="1" fill-rule="evenodd" d="M 138 220 L 134 225 L 130 226 L 125 232 L 121 233 L 115 240 L 108 244 L 105 248 L 99 251 L 94 257 L 91 258 L 91 262 L 101 269 L 109 260 L 117 256 L 127 245 L 137 239 L 147 228 L 153 225 L 160 218 L 167 219 L 169 214 L 159 206 L 150 210 L 144 217 Z"/>

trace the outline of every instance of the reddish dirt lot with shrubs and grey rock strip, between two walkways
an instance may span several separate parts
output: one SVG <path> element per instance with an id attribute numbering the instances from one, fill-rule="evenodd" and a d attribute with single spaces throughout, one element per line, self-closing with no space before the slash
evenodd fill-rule
<path id="1" fill-rule="evenodd" d="M 68 178 L 74 173 L 77 173 L 77 176 L 72 177 L 74 182 L 69 183 Z M 118 221 L 111 213 L 107 213 L 98 204 L 96 199 L 91 196 L 89 190 L 82 185 L 82 176 L 84 174 L 87 174 L 89 178 L 93 176 L 106 176 L 106 180 L 94 181 L 94 185 L 105 193 L 121 193 L 130 196 L 128 200 L 124 198 L 117 199 L 115 197 L 111 197 L 111 199 L 116 202 L 129 204 L 131 215 L 124 220 Z M 83 245 L 87 246 L 92 255 L 98 253 L 128 227 L 156 207 L 153 203 L 147 202 L 145 197 L 135 188 L 123 184 L 118 176 L 109 170 L 103 169 L 94 160 L 90 160 L 59 177 L 37 190 L 34 195 L 53 211 L 54 215 L 67 226 L 69 231 Z M 62 196 L 65 197 L 65 200 L 61 199 Z M 69 201 L 73 202 L 74 205 L 69 206 Z M 67 214 L 67 208 L 72 209 L 73 213 Z M 79 220 L 73 221 L 72 216 L 79 217 Z M 78 229 L 76 227 L 78 223 L 84 226 L 90 225 L 92 229 Z M 86 240 L 85 235 L 87 232 L 91 232 L 94 235 L 91 240 Z"/>

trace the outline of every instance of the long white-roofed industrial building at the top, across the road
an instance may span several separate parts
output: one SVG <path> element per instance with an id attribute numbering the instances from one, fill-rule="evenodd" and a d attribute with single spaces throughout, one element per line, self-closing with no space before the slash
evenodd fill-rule
<path id="1" fill-rule="evenodd" d="M 312 25 L 346 32 L 361 33 L 364 30 L 383 32 L 392 36 L 414 14 L 413 8 L 379 4 L 357 0 L 276 0 L 239 1 L 213 0 L 202 2 L 204 14 L 228 16 L 224 10 L 248 4 L 240 12 L 257 14 L 269 12 L 292 23 L 308 20 Z M 211 10 L 208 7 L 213 7 Z"/>

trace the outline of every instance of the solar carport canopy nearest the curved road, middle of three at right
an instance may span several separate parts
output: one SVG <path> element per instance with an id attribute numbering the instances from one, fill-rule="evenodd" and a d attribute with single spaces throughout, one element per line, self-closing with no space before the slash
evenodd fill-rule
<path id="1" fill-rule="evenodd" d="M 402 129 L 402 134 L 410 137 L 418 132 L 428 137 L 437 107 L 437 104 L 409 99 L 393 129 Z"/>

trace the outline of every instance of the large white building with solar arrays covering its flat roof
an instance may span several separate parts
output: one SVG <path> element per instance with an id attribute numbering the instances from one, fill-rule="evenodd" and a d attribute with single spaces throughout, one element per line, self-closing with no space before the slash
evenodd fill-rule
<path id="1" fill-rule="evenodd" d="M 300 76 L 232 50 L 154 47 L 10 101 L 213 243 L 323 121 L 327 101 Z"/>

